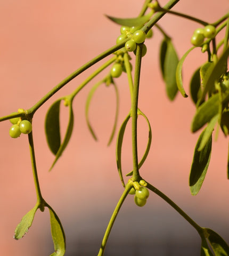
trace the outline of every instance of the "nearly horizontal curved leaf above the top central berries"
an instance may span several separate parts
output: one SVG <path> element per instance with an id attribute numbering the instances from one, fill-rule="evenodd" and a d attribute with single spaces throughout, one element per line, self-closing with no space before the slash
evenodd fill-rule
<path id="1" fill-rule="evenodd" d="M 113 22 L 121 25 L 121 26 L 128 26 L 128 27 L 138 27 L 138 26 L 143 26 L 145 22 L 149 21 L 150 17 L 152 16 L 152 12 L 149 12 L 148 14 L 142 16 L 142 17 L 136 17 L 136 18 L 116 18 L 116 17 L 111 17 L 109 15 L 106 15 L 107 18 L 112 20 Z"/>

